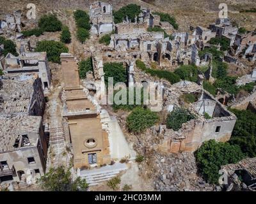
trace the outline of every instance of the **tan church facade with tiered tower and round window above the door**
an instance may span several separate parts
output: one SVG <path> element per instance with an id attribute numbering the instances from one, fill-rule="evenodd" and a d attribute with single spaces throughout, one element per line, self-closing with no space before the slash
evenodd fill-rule
<path id="1" fill-rule="evenodd" d="M 110 162 L 108 133 L 102 128 L 100 112 L 80 85 L 78 66 L 70 54 L 61 54 L 65 82 L 63 117 L 67 119 L 74 150 L 74 168 Z"/>

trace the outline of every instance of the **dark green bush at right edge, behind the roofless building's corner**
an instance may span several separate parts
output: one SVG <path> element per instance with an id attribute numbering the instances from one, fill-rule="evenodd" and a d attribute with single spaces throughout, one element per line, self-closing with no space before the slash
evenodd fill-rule
<path id="1" fill-rule="evenodd" d="M 231 109 L 237 120 L 229 143 L 239 145 L 248 157 L 256 157 L 256 113 Z"/>

